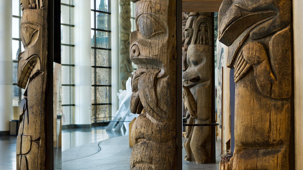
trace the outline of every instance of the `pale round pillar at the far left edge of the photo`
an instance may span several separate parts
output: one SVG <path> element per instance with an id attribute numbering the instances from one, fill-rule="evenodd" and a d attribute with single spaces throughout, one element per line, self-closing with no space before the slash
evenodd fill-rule
<path id="1" fill-rule="evenodd" d="M 0 0 L 0 134 L 13 117 L 12 84 L 12 1 Z"/>

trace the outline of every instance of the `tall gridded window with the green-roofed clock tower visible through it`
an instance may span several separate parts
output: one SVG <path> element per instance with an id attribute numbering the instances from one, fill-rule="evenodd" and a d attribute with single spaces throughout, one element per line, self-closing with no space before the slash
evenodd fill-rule
<path id="1" fill-rule="evenodd" d="M 91 0 L 92 118 L 108 117 L 111 105 L 110 1 Z"/>

